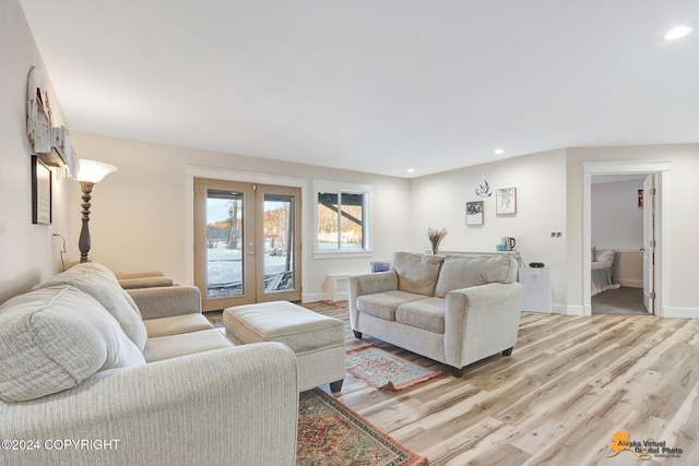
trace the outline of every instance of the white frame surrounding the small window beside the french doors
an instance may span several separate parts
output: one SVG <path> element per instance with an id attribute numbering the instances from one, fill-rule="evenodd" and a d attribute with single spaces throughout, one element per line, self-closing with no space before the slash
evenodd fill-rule
<path id="1" fill-rule="evenodd" d="M 356 258 L 372 254 L 371 250 L 371 191 L 370 184 L 355 184 L 342 181 L 313 180 L 313 258 L 335 259 Z M 321 250 L 318 249 L 318 193 L 332 192 L 341 195 L 343 193 L 364 195 L 364 249 L 356 251 Z"/>

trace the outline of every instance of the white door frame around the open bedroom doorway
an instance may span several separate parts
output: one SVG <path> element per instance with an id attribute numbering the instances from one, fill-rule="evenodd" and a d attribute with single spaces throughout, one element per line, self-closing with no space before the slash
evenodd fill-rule
<path id="1" fill-rule="evenodd" d="M 653 267 L 655 283 L 655 315 L 665 316 L 670 302 L 670 267 L 665 251 L 665 238 L 670 231 L 670 160 L 659 162 L 585 162 L 582 163 L 582 213 L 583 213 L 583 244 L 582 256 L 582 315 L 592 315 L 591 264 L 592 251 L 592 177 L 594 175 L 655 175 L 655 266 Z"/>

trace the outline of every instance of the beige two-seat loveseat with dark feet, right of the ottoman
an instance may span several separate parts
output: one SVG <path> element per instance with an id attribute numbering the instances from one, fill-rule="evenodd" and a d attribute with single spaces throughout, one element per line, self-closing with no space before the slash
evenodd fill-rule
<path id="1" fill-rule="evenodd" d="M 350 278 L 350 322 L 363 334 L 463 368 L 517 343 L 522 285 L 513 258 L 396 252 L 389 272 Z"/>

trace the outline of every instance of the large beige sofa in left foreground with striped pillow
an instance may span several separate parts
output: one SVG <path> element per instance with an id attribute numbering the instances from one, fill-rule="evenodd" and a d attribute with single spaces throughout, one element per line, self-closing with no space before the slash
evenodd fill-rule
<path id="1" fill-rule="evenodd" d="M 234 346 L 194 287 L 90 263 L 0 307 L 0 464 L 293 465 L 297 419 L 293 351 Z"/>

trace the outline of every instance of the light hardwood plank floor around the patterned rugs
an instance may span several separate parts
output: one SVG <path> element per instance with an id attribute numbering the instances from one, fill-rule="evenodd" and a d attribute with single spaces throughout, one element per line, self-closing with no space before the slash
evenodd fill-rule
<path id="1" fill-rule="evenodd" d="M 402 392 L 347 374 L 337 398 L 430 465 L 698 465 L 699 320 L 653 315 L 522 314 L 511 357 L 495 356 L 453 378 L 438 362 L 368 342 L 445 373 Z M 631 452 L 612 438 L 664 441 L 679 457 Z"/>

